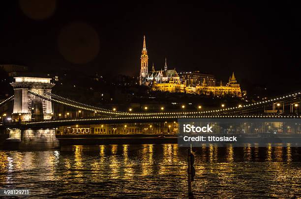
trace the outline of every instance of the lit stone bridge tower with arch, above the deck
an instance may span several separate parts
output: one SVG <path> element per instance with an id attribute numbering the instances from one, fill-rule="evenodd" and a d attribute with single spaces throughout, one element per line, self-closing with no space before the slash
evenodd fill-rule
<path id="1" fill-rule="evenodd" d="M 53 115 L 52 103 L 32 95 L 32 90 L 40 95 L 50 97 L 44 91 L 51 92 L 55 84 L 50 83 L 51 78 L 36 77 L 14 77 L 15 81 L 10 83 L 14 88 L 14 106 L 12 119 L 18 121 L 51 119 Z"/>

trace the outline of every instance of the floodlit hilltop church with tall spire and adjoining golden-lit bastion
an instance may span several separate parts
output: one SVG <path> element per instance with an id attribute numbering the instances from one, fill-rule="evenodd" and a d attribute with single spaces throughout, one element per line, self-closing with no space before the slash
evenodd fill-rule
<path id="1" fill-rule="evenodd" d="M 151 86 L 151 90 L 161 90 L 168 92 L 187 92 L 205 95 L 236 95 L 241 97 L 241 87 L 237 83 L 234 72 L 229 78 L 229 82 L 223 85 L 220 82 L 216 85 L 213 75 L 202 74 L 199 71 L 177 73 L 176 69 L 168 69 L 165 58 L 164 70 L 155 70 L 152 64 L 149 72 L 149 56 L 146 48 L 145 36 L 143 38 L 143 48 L 141 53 L 140 85 Z M 192 84 L 191 84 L 192 83 Z"/>

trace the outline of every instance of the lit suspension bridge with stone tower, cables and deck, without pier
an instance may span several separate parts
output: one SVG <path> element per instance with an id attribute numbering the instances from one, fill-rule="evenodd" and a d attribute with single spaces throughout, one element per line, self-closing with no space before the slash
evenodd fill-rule
<path id="1" fill-rule="evenodd" d="M 74 124 L 165 122 L 179 118 L 300 118 L 301 92 L 211 111 L 120 112 L 77 102 L 51 92 L 47 78 L 15 78 L 15 94 L 0 102 L 13 104 L 12 115 L 1 113 L 3 127 L 57 127 Z"/>

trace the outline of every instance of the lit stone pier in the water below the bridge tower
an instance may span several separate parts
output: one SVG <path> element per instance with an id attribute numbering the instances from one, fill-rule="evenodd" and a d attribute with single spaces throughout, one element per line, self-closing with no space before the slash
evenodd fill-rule
<path id="1" fill-rule="evenodd" d="M 10 129 L 4 148 L 17 150 L 55 149 L 60 147 L 55 129 Z"/>

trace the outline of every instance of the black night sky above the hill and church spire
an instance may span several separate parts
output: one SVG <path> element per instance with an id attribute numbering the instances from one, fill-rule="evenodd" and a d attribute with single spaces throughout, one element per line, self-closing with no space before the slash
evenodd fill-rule
<path id="1" fill-rule="evenodd" d="M 301 8 L 291 1 L 39 2 L 1 1 L 0 63 L 138 75 L 145 34 L 149 69 L 152 62 L 163 67 L 166 56 L 178 72 L 226 81 L 235 71 L 239 81 L 301 84 Z"/>

